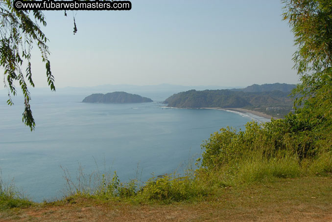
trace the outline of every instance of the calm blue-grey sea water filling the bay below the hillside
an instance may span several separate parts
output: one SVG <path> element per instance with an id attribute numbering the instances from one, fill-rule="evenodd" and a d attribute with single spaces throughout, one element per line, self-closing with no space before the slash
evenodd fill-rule
<path id="1" fill-rule="evenodd" d="M 167 109 L 160 102 L 88 104 L 84 96 L 34 96 L 36 130 L 22 123 L 23 106 L 0 98 L 0 168 L 2 180 L 14 179 L 35 201 L 61 198 L 67 168 L 84 172 L 116 170 L 119 178 L 142 180 L 178 169 L 201 154 L 200 145 L 222 127 L 243 128 L 248 116 L 218 110 Z"/>

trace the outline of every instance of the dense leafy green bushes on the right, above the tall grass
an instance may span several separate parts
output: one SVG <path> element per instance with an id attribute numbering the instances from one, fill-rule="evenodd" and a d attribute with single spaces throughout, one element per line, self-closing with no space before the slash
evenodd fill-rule
<path id="1" fill-rule="evenodd" d="M 261 125 L 249 122 L 245 131 L 224 128 L 205 141 L 202 166 L 213 169 L 237 164 L 257 152 L 265 158 L 274 158 L 280 152 L 296 155 L 299 160 L 312 158 L 322 151 L 330 136 L 331 133 L 320 131 L 312 122 L 292 113 Z"/>

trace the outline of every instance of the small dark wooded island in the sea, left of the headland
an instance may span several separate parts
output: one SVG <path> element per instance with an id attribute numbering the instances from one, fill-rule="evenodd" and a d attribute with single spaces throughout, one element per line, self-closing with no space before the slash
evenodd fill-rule
<path id="1" fill-rule="evenodd" d="M 83 103 L 148 103 L 151 99 L 127 92 L 95 93 L 85 97 Z"/>

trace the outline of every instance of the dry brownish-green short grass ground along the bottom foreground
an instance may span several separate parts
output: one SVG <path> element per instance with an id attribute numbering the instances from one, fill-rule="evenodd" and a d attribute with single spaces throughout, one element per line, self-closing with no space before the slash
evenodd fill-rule
<path id="1" fill-rule="evenodd" d="M 137 204 L 74 198 L 0 211 L 0 222 L 332 221 L 332 176 L 220 188 L 198 202 Z"/>

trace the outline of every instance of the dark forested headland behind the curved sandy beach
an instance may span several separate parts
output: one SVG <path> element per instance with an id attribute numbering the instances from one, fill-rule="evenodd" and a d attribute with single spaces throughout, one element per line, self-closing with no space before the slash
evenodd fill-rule
<path id="1" fill-rule="evenodd" d="M 292 110 L 293 102 L 288 96 L 289 94 L 290 91 L 284 92 L 281 90 L 257 92 L 229 89 L 189 90 L 168 97 L 164 103 L 167 103 L 168 107 L 177 108 L 245 108 L 275 116 L 279 116 L 278 114 L 283 116 Z"/>

